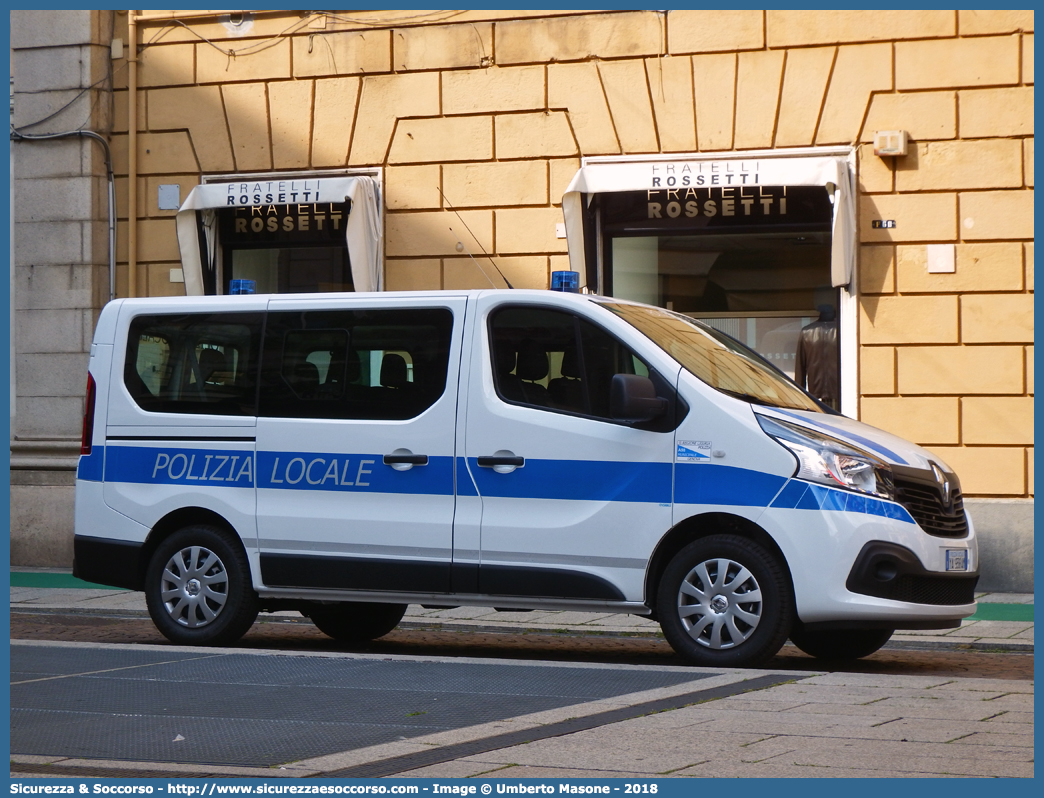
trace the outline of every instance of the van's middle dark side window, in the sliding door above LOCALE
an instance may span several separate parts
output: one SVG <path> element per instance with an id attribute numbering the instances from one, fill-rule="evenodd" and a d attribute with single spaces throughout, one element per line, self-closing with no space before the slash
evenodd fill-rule
<path id="1" fill-rule="evenodd" d="M 420 416 L 446 390 L 453 314 L 446 308 L 268 314 L 260 415 Z"/>

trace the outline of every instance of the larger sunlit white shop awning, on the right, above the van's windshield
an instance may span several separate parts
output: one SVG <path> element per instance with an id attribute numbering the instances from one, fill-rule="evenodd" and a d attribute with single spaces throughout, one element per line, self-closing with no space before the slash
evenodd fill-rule
<path id="1" fill-rule="evenodd" d="M 682 189 L 688 186 L 824 186 L 833 196 L 830 277 L 833 285 L 852 282 L 855 266 L 855 185 L 847 158 L 840 156 L 759 157 L 588 161 L 573 177 L 562 198 L 569 242 L 569 266 L 587 273 L 584 241 L 584 196 L 612 191 Z M 697 175 L 703 182 L 697 183 Z M 717 180 L 712 183 L 712 178 Z"/>

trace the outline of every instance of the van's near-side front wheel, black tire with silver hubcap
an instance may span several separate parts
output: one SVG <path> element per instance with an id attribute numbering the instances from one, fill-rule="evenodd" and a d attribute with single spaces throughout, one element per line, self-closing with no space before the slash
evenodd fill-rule
<path id="1" fill-rule="evenodd" d="M 786 641 L 792 605 L 783 564 L 737 535 L 689 543 L 667 565 L 657 591 L 660 628 L 671 648 L 709 667 L 769 659 Z"/>

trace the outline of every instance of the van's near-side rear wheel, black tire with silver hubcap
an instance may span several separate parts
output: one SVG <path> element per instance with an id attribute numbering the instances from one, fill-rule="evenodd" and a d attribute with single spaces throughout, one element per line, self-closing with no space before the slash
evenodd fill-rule
<path id="1" fill-rule="evenodd" d="M 156 628 L 181 646 L 233 643 L 259 609 L 238 538 L 207 524 L 160 543 L 145 570 L 145 603 Z"/>

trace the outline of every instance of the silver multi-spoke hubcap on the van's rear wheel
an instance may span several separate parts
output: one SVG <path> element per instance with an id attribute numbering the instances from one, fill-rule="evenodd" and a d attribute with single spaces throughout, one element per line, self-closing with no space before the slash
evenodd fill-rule
<path id="1" fill-rule="evenodd" d="M 224 564 L 203 546 L 183 548 L 163 569 L 160 595 L 177 624 L 189 629 L 205 627 L 221 613 L 229 598 Z"/>

